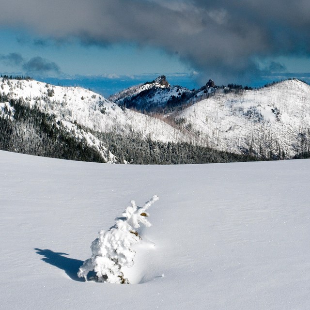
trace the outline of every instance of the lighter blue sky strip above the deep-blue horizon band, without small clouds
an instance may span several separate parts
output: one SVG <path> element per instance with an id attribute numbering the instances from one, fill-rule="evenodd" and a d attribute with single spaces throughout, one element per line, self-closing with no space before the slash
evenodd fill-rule
<path id="1" fill-rule="evenodd" d="M 74 38 L 57 42 L 31 34 L 30 31 L 0 29 L 0 44 L 2 55 L 17 53 L 26 60 L 40 56 L 48 62 L 55 62 L 60 68 L 60 76 L 140 75 L 165 72 L 167 69 L 169 72 L 189 72 L 191 69 L 177 56 L 163 49 L 139 47 L 134 43 L 86 45 Z M 2 62 L 1 66 L 8 71 L 14 68 L 14 64 L 9 62 Z M 25 72 L 17 65 L 18 69 Z M 52 70 L 48 72 L 50 76 L 56 73 Z"/>

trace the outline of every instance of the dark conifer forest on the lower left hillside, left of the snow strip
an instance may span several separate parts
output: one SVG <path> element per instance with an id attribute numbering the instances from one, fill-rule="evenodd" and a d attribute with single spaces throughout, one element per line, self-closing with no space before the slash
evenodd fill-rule
<path id="1" fill-rule="evenodd" d="M 81 161 L 104 162 L 100 153 L 77 140 L 53 115 L 23 105 L 21 99 L 10 100 L 15 108 L 14 120 L 0 117 L 0 149 L 23 154 Z"/>

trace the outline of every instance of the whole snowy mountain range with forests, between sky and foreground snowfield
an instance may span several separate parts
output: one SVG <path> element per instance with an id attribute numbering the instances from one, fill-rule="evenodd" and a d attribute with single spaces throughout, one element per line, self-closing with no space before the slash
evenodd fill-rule
<path id="1" fill-rule="evenodd" d="M 160 76 L 108 100 L 78 87 L 3 77 L 0 148 L 122 163 L 307 157 L 310 86 L 294 79 L 251 90 L 210 79 L 188 90 Z"/>

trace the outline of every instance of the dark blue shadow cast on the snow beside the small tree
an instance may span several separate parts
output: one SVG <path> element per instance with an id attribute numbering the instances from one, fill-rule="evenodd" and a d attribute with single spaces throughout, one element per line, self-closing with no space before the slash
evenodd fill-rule
<path id="1" fill-rule="evenodd" d="M 44 256 L 42 261 L 56 266 L 62 270 L 75 281 L 85 281 L 83 278 L 78 278 L 78 268 L 83 264 L 83 261 L 74 258 L 65 257 L 67 253 L 53 252 L 49 249 L 34 248 L 37 254 Z"/>

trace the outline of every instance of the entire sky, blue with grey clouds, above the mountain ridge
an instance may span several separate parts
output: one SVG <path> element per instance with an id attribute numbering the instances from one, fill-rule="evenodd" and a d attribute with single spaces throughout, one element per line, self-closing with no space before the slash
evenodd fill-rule
<path id="1" fill-rule="evenodd" d="M 309 16 L 305 0 L 10 0 L 0 73 L 104 95 L 162 74 L 188 88 L 310 81 Z"/>

